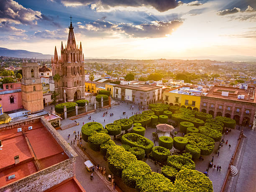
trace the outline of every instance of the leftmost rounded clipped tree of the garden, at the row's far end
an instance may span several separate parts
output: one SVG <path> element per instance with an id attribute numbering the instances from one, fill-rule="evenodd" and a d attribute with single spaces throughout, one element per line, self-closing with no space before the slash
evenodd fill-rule
<path id="1" fill-rule="evenodd" d="M 86 123 L 82 126 L 82 138 L 85 142 L 88 142 L 88 137 L 94 133 L 101 131 L 103 126 L 97 122 Z"/>

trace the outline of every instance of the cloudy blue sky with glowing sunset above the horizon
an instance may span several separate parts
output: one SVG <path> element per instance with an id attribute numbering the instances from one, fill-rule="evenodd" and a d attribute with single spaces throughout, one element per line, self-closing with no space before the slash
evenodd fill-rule
<path id="1" fill-rule="evenodd" d="M 256 0 L 0 0 L 0 47 L 85 57 L 256 56 Z"/>

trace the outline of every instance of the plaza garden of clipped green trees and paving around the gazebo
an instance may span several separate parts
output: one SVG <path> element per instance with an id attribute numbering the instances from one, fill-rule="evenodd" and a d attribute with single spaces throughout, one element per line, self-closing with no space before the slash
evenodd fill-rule
<path id="1" fill-rule="evenodd" d="M 125 102 L 75 120 L 79 125 L 59 133 L 70 143 L 73 132 L 82 129 L 84 154 L 95 166 L 105 167 L 105 177 L 114 174 L 122 191 L 220 191 L 240 134 L 233 129 L 235 123 L 231 119 L 212 119 L 206 113 L 165 104 L 151 104 L 145 109 Z M 159 124 L 171 129 L 163 132 L 156 128 Z M 219 148 L 222 139 L 228 144 L 224 142 Z M 208 168 L 212 156 L 212 164 L 221 166 L 221 171 Z M 199 161 L 200 157 L 204 160 Z M 208 177 L 203 174 L 206 170 Z M 78 179 L 86 177 L 90 182 L 89 176 L 84 166 L 77 168 Z M 93 181 L 90 187 L 91 190 L 85 189 L 95 191 L 100 183 L 95 185 Z"/>

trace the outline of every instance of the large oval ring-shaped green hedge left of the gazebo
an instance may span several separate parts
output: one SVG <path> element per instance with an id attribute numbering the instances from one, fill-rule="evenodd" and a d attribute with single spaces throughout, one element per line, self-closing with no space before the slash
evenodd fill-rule
<path id="1" fill-rule="evenodd" d="M 146 137 L 138 135 L 136 133 L 127 133 L 122 136 L 122 143 L 131 147 L 141 147 L 148 154 L 154 147 L 154 143 Z"/>

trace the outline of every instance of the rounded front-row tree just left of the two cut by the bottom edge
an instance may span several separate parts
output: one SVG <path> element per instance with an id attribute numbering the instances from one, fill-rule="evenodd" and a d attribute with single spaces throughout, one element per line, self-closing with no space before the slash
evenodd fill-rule
<path id="1" fill-rule="evenodd" d="M 131 162 L 122 172 L 122 181 L 128 187 L 135 188 L 136 183 L 141 179 L 141 177 L 150 175 L 151 168 L 148 164 L 143 161 L 133 161 Z"/>

